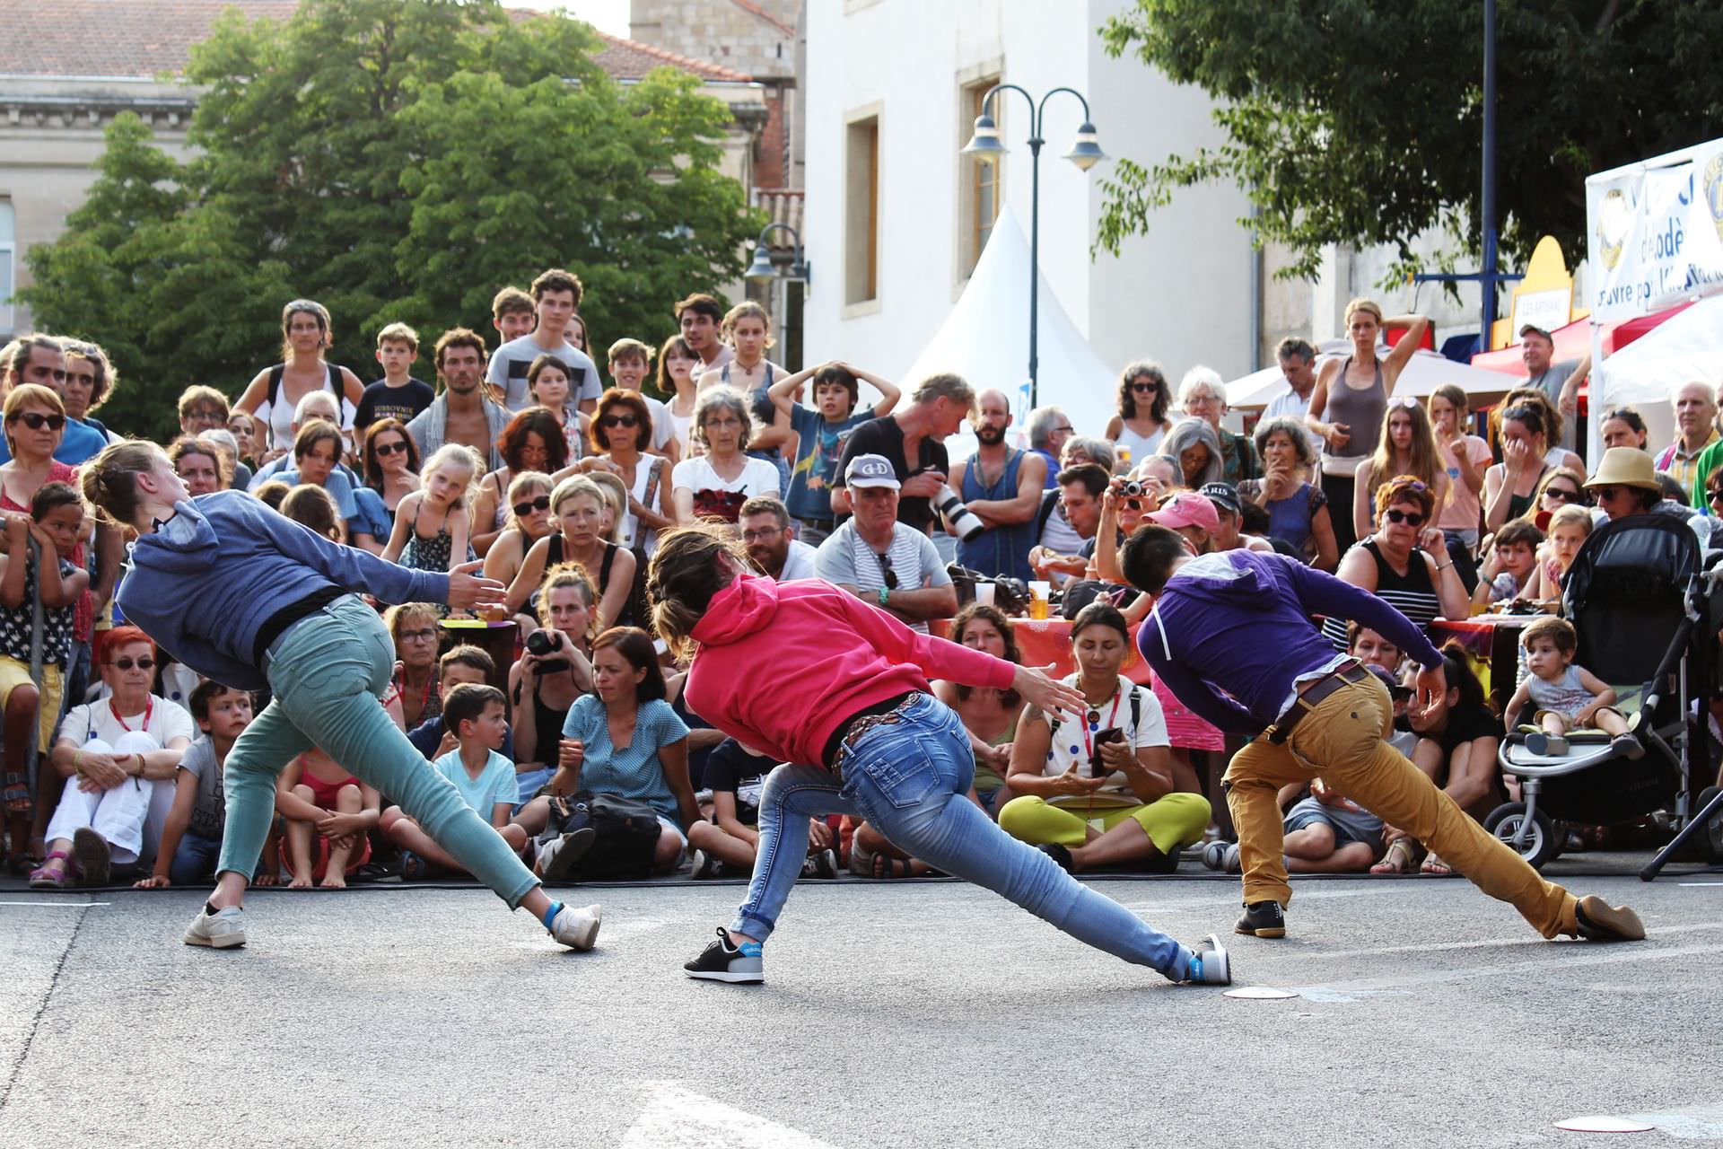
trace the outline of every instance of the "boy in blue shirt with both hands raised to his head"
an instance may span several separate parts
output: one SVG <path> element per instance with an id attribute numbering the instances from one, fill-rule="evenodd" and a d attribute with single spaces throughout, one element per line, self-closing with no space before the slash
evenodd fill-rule
<path id="1" fill-rule="evenodd" d="M 813 376 L 813 408 L 796 401 L 808 376 Z M 880 394 L 879 403 L 863 413 L 856 413 L 862 398 L 856 379 L 865 379 Z M 836 525 L 832 475 L 837 474 L 849 432 L 870 419 L 889 415 L 899 394 L 896 384 L 837 360 L 798 370 L 767 389 L 772 405 L 789 415 L 789 425 L 796 432 L 796 465 L 784 505 L 799 524 L 796 537 L 808 546 L 818 546 Z"/>

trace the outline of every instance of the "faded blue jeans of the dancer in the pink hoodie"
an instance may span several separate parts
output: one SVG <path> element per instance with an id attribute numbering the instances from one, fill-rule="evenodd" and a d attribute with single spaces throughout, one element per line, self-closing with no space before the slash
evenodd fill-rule
<path id="1" fill-rule="evenodd" d="M 937 870 L 991 889 L 1096 949 L 1184 980 L 1191 951 L 1053 858 L 1018 842 L 968 799 L 975 775 L 968 734 L 941 701 L 922 696 L 901 722 L 867 730 L 841 756 L 843 784 L 820 767 L 782 765 L 760 794 L 760 849 L 748 899 L 731 929 L 770 937 L 801 875 L 808 818 L 848 813 Z"/>

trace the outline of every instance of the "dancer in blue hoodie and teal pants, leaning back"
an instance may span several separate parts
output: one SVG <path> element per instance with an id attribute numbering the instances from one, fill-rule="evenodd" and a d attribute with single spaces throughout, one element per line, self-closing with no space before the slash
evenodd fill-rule
<path id="1" fill-rule="evenodd" d="M 241 903 L 274 815 L 276 775 L 314 746 L 389 794 L 510 908 L 527 908 L 565 946 L 593 946 L 598 906 L 546 897 L 379 705 L 395 643 L 358 591 L 467 608 L 501 603 L 503 584 L 474 575 L 479 563 L 451 574 L 396 567 L 239 491 L 193 500 L 153 443 L 105 448 L 84 465 L 83 486 L 84 498 L 140 536 L 119 596 L 126 618 L 198 674 L 274 693 L 227 755 L 215 894 L 186 930 L 188 946 L 245 944 Z"/>

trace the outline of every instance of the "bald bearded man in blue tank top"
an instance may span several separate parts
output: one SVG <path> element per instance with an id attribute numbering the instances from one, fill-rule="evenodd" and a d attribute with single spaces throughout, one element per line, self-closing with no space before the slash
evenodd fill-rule
<path id="1" fill-rule="evenodd" d="M 986 575 L 1032 579 L 1029 548 L 1036 544 L 1048 460 L 1005 441 L 1011 427 L 1011 400 L 1005 391 L 977 394 L 970 422 L 979 446 L 963 463 L 961 482 L 953 486 L 987 529 L 958 543 L 958 562 Z"/>

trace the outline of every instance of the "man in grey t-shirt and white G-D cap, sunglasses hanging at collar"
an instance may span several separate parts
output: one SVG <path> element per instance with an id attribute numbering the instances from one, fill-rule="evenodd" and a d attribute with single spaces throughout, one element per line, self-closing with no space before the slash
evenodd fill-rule
<path id="1" fill-rule="evenodd" d="M 818 577 L 927 634 L 929 618 L 958 613 L 958 591 L 934 541 L 898 522 L 898 475 L 884 455 L 856 455 L 844 470 L 853 515 L 813 556 Z"/>

